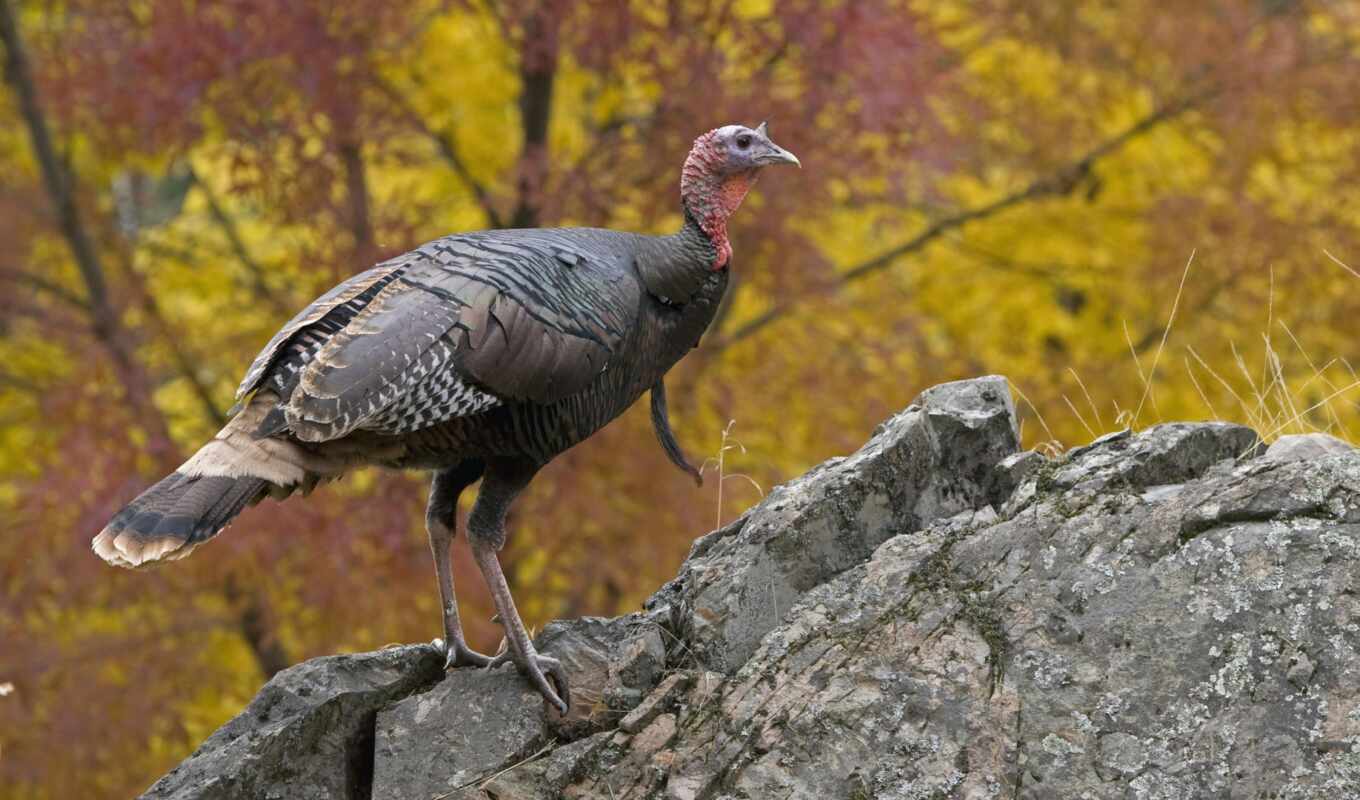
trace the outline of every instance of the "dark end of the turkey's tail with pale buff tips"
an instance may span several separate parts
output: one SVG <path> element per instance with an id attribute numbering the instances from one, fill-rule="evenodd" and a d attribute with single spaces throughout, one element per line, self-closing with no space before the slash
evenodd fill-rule
<path id="1" fill-rule="evenodd" d="M 125 567 L 184 558 L 226 528 L 268 486 L 261 478 L 171 472 L 113 517 L 95 536 L 94 551 Z"/>

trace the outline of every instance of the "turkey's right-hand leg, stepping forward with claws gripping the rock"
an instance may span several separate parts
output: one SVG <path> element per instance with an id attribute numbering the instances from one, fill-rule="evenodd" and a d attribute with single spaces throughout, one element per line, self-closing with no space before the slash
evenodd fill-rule
<path id="1" fill-rule="evenodd" d="M 488 464 L 481 491 L 477 493 L 477 503 L 472 506 L 472 516 L 468 518 L 468 540 L 472 543 L 472 558 L 477 562 L 481 577 L 486 578 L 487 588 L 491 590 L 491 600 L 496 605 L 496 614 L 505 627 L 506 644 L 509 645 L 509 650 L 496 656 L 491 665 L 496 667 L 507 660 L 514 661 L 520 672 L 539 690 L 539 694 L 559 713 L 566 714 L 571 702 L 567 672 L 562 668 L 560 661 L 549 656 L 540 656 L 533 648 L 529 631 L 525 630 L 524 620 L 520 619 L 520 612 L 514 607 L 514 597 L 510 596 L 510 586 L 500 570 L 500 559 L 496 556 L 496 552 L 505 547 L 505 522 L 510 503 L 524 491 L 537 471 L 537 465 L 520 460 Z"/>

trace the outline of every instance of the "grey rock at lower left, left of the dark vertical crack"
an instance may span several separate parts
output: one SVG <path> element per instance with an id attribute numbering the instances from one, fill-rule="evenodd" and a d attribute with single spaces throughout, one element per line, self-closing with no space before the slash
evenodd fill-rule
<path id="1" fill-rule="evenodd" d="M 442 668 L 434 648 L 413 645 L 284 669 L 143 799 L 369 797 L 374 716 Z"/>

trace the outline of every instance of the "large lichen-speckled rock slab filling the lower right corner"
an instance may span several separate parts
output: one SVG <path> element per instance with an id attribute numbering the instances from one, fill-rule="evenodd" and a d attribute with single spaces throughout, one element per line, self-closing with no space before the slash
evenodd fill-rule
<path id="1" fill-rule="evenodd" d="M 1231 457 L 1250 441 L 1129 434 L 1016 516 L 888 540 L 681 701 L 665 792 L 1356 796 L 1360 454 Z M 1229 459 L 1185 450 L 1206 445 Z M 579 796 L 660 793 L 650 747 L 622 741 Z"/>

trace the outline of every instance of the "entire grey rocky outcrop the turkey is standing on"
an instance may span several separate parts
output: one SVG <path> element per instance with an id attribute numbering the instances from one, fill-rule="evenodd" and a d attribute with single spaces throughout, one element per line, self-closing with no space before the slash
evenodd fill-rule
<path id="1" fill-rule="evenodd" d="M 1017 452 L 936 386 L 549 624 L 574 710 L 428 646 L 279 673 L 155 799 L 1360 796 L 1360 452 L 1225 423 Z"/>

